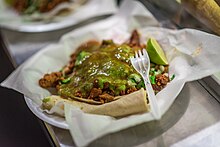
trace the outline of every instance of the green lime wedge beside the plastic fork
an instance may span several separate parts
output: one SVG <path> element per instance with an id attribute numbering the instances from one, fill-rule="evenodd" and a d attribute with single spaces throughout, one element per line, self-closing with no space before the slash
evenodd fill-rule
<path id="1" fill-rule="evenodd" d="M 160 64 L 160 65 L 168 65 L 168 61 L 163 52 L 163 49 L 160 47 L 160 45 L 154 38 L 150 38 L 148 40 L 147 52 L 148 52 L 151 62 Z"/>

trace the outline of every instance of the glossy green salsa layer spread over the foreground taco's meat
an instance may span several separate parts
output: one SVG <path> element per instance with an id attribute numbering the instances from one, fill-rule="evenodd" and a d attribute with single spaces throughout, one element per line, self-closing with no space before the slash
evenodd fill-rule
<path id="1" fill-rule="evenodd" d="M 94 87 L 118 96 L 122 91 L 138 87 L 142 82 L 130 63 L 134 50 L 128 45 L 105 41 L 104 45 L 89 48 L 77 54 L 70 81 L 62 84 L 59 89 L 61 96 L 72 97 L 80 93 L 81 97 L 88 98 Z"/>

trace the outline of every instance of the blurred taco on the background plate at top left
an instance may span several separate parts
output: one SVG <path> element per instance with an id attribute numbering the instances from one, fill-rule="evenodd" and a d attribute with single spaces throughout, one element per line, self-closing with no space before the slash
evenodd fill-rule
<path id="1" fill-rule="evenodd" d="M 28 16 L 26 19 L 43 20 L 70 14 L 86 0 L 5 0 L 5 2 L 20 15 Z"/>

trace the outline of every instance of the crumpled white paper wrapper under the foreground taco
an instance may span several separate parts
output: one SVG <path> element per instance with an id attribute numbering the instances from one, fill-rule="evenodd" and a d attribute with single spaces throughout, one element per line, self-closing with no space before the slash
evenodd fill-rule
<path id="1" fill-rule="evenodd" d="M 42 49 L 28 59 L 1 85 L 23 93 L 29 108 L 41 119 L 68 128 L 77 146 L 86 146 L 108 133 L 155 120 L 151 112 L 116 119 L 86 114 L 69 104 L 65 104 L 66 120 L 62 120 L 58 116 L 43 113 L 39 108 L 41 99 L 50 93 L 38 85 L 38 80 L 45 73 L 60 70 L 68 63 L 69 55 L 77 46 L 90 39 L 113 39 L 116 43 L 122 43 L 134 29 L 138 29 L 143 43 L 150 37 L 159 42 L 169 62 L 169 74 L 175 74 L 174 80 L 156 95 L 162 115 L 186 82 L 220 70 L 220 37 L 194 29 L 160 28 L 140 2 L 124 1 L 117 14 L 64 35 L 57 44 Z"/>

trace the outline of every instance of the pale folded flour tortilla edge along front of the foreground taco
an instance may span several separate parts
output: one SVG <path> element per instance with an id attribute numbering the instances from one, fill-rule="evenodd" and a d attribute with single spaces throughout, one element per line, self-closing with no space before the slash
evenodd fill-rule
<path id="1" fill-rule="evenodd" d="M 108 115 L 112 117 L 123 117 L 131 114 L 144 113 L 148 112 L 150 109 L 147 103 L 146 91 L 143 88 L 122 96 L 120 99 L 102 105 L 93 105 L 75 100 L 63 99 L 60 96 L 52 95 L 43 102 L 42 107 L 43 109 L 51 111 L 50 113 L 57 113 L 64 116 L 64 103 L 70 103 L 80 108 L 85 113 Z M 54 107 L 56 107 L 56 109 L 53 109 Z"/>

